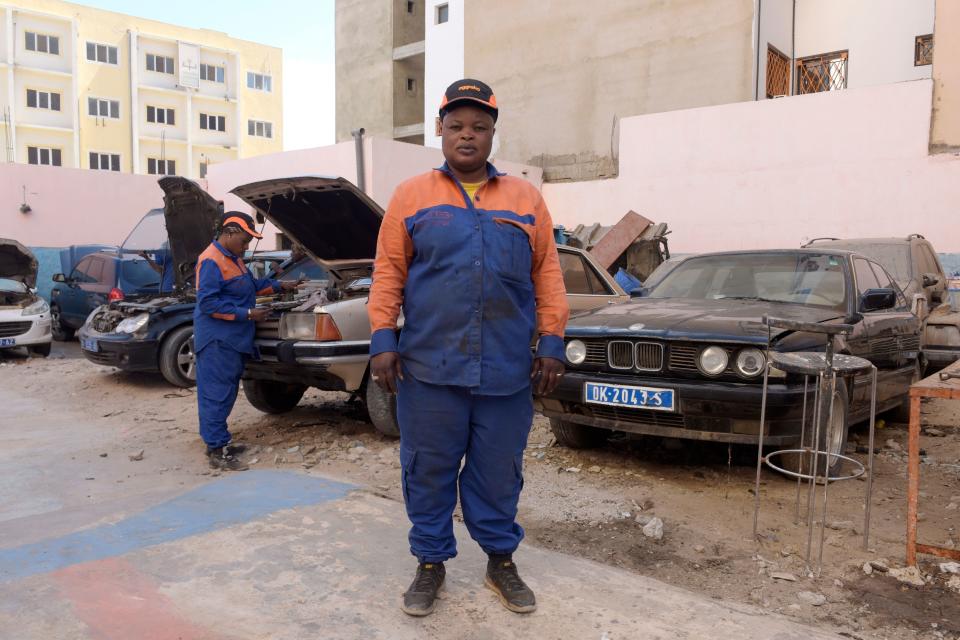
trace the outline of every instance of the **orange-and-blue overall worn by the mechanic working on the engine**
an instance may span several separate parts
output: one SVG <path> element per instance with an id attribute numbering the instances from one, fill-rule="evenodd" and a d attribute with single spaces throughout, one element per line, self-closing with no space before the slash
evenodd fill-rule
<path id="1" fill-rule="evenodd" d="M 256 348 L 248 318 L 257 295 L 280 290 L 276 280 L 258 280 L 243 261 L 214 241 L 197 260 L 197 306 L 193 349 L 197 358 L 197 412 L 207 449 L 230 442 L 227 418 L 237 400 L 244 362 Z"/>

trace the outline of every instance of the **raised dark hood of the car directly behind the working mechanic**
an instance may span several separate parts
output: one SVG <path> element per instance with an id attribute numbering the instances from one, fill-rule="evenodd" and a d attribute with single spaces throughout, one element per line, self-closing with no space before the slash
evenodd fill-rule
<path id="1" fill-rule="evenodd" d="M 182 289 L 197 258 L 216 238 L 223 203 L 186 178 L 168 176 L 160 178 L 159 183 L 170 252 L 177 265 L 177 288 Z"/>

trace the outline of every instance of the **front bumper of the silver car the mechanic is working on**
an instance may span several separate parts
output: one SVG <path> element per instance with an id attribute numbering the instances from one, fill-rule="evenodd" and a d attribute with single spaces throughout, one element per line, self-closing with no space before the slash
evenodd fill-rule
<path id="1" fill-rule="evenodd" d="M 370 361 L 370 341 L 256 341 L 259 360 L 247 362 L 243 377 L 304 384 L 326 391 L 356 391 Z"/>

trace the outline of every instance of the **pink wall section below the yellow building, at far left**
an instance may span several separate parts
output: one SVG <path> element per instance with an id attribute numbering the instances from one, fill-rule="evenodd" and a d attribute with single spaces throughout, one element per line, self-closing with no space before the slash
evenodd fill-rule
<path id="1" fill-rule="evenodd" d="M 29 214 L 19 211 L 24 186 Z M 143 214 L 162 206 L 155 176 L 0 165 L 0 237 L 27 246 L 120 244 Z"/>

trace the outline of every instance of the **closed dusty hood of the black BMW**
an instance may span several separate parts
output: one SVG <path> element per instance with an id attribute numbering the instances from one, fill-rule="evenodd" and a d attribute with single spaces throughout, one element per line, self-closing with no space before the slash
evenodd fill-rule
<path id="1" fill-rule="evenodd" d="M 766 343 L 763 316 L 826 322 L 842 317 L 832 309 L 752 300 L 640 298 L 570 318 L 567 335 L 629 335 L 665 340 Z M 773 336 L 780 331 L 774 330 Z"/>

